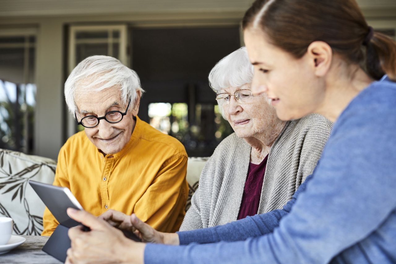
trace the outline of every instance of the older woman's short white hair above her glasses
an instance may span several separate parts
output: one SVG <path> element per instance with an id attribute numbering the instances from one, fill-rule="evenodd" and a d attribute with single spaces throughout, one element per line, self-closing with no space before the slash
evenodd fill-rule
<path id="1" fill-rule="evenodd" d="M 247 56 L 246 47 L 228 54 L 209 73 L 209 85 L 219 93 L 228 87 L 240 87 L 253 80 L 253 65 Z"/>

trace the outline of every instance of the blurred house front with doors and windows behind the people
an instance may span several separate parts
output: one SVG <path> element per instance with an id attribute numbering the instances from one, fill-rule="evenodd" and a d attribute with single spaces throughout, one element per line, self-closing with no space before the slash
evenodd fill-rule
<path id="1" fill-rule="evenodd" d="M 0 148 L 56 159 L 75 132 L 63 84 L 89 55 L 137 71 L 139 117 L 209 156 L 232 132 L 208 73 L 243 45 L 251 0 L 0 0 Z M 396 1 L 358 0 L 376 30 L 395 38 Z"/>

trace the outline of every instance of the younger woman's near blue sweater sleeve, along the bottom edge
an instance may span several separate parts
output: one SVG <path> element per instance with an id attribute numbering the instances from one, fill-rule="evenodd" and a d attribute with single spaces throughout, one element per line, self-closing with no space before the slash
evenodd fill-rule
<path id="1" fill-rule="evenodd" d="M 306 190 L 272 233 L 236 242 L 148 245 L 146 263 L 327 263 L 363 239 L 375 239 L 395 210 L 396 116 L 394 108 L 367 109 L 369 100 L 345 113 L 348 122 L 339 120 Z"/>

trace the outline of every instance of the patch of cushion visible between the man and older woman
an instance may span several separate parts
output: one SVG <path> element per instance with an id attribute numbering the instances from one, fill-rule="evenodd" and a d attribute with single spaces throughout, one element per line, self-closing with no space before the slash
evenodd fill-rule
<path id="1" fill-rule="evenodd" d="M 187 162 L 187 182 L 188 182 L 188 198 L 186 203 L 186 212 L 191 206 L 191 197 L 198 189 L 199 178 L 202 168 L 204 168 L 209 157 L 190 157 Z"/>

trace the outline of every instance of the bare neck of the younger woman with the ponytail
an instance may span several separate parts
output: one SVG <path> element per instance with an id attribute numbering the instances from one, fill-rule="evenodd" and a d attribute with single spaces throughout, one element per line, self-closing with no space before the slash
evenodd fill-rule
<path id="1" fill-rule="evenodd" d="M 349 103 L 371 82 L 373 79 L 360 67 L 356 65 L 348 67 L 341 63 L 337 71 L 329 73 L 325 98 L 316 113 L 335 122 Z"/>

